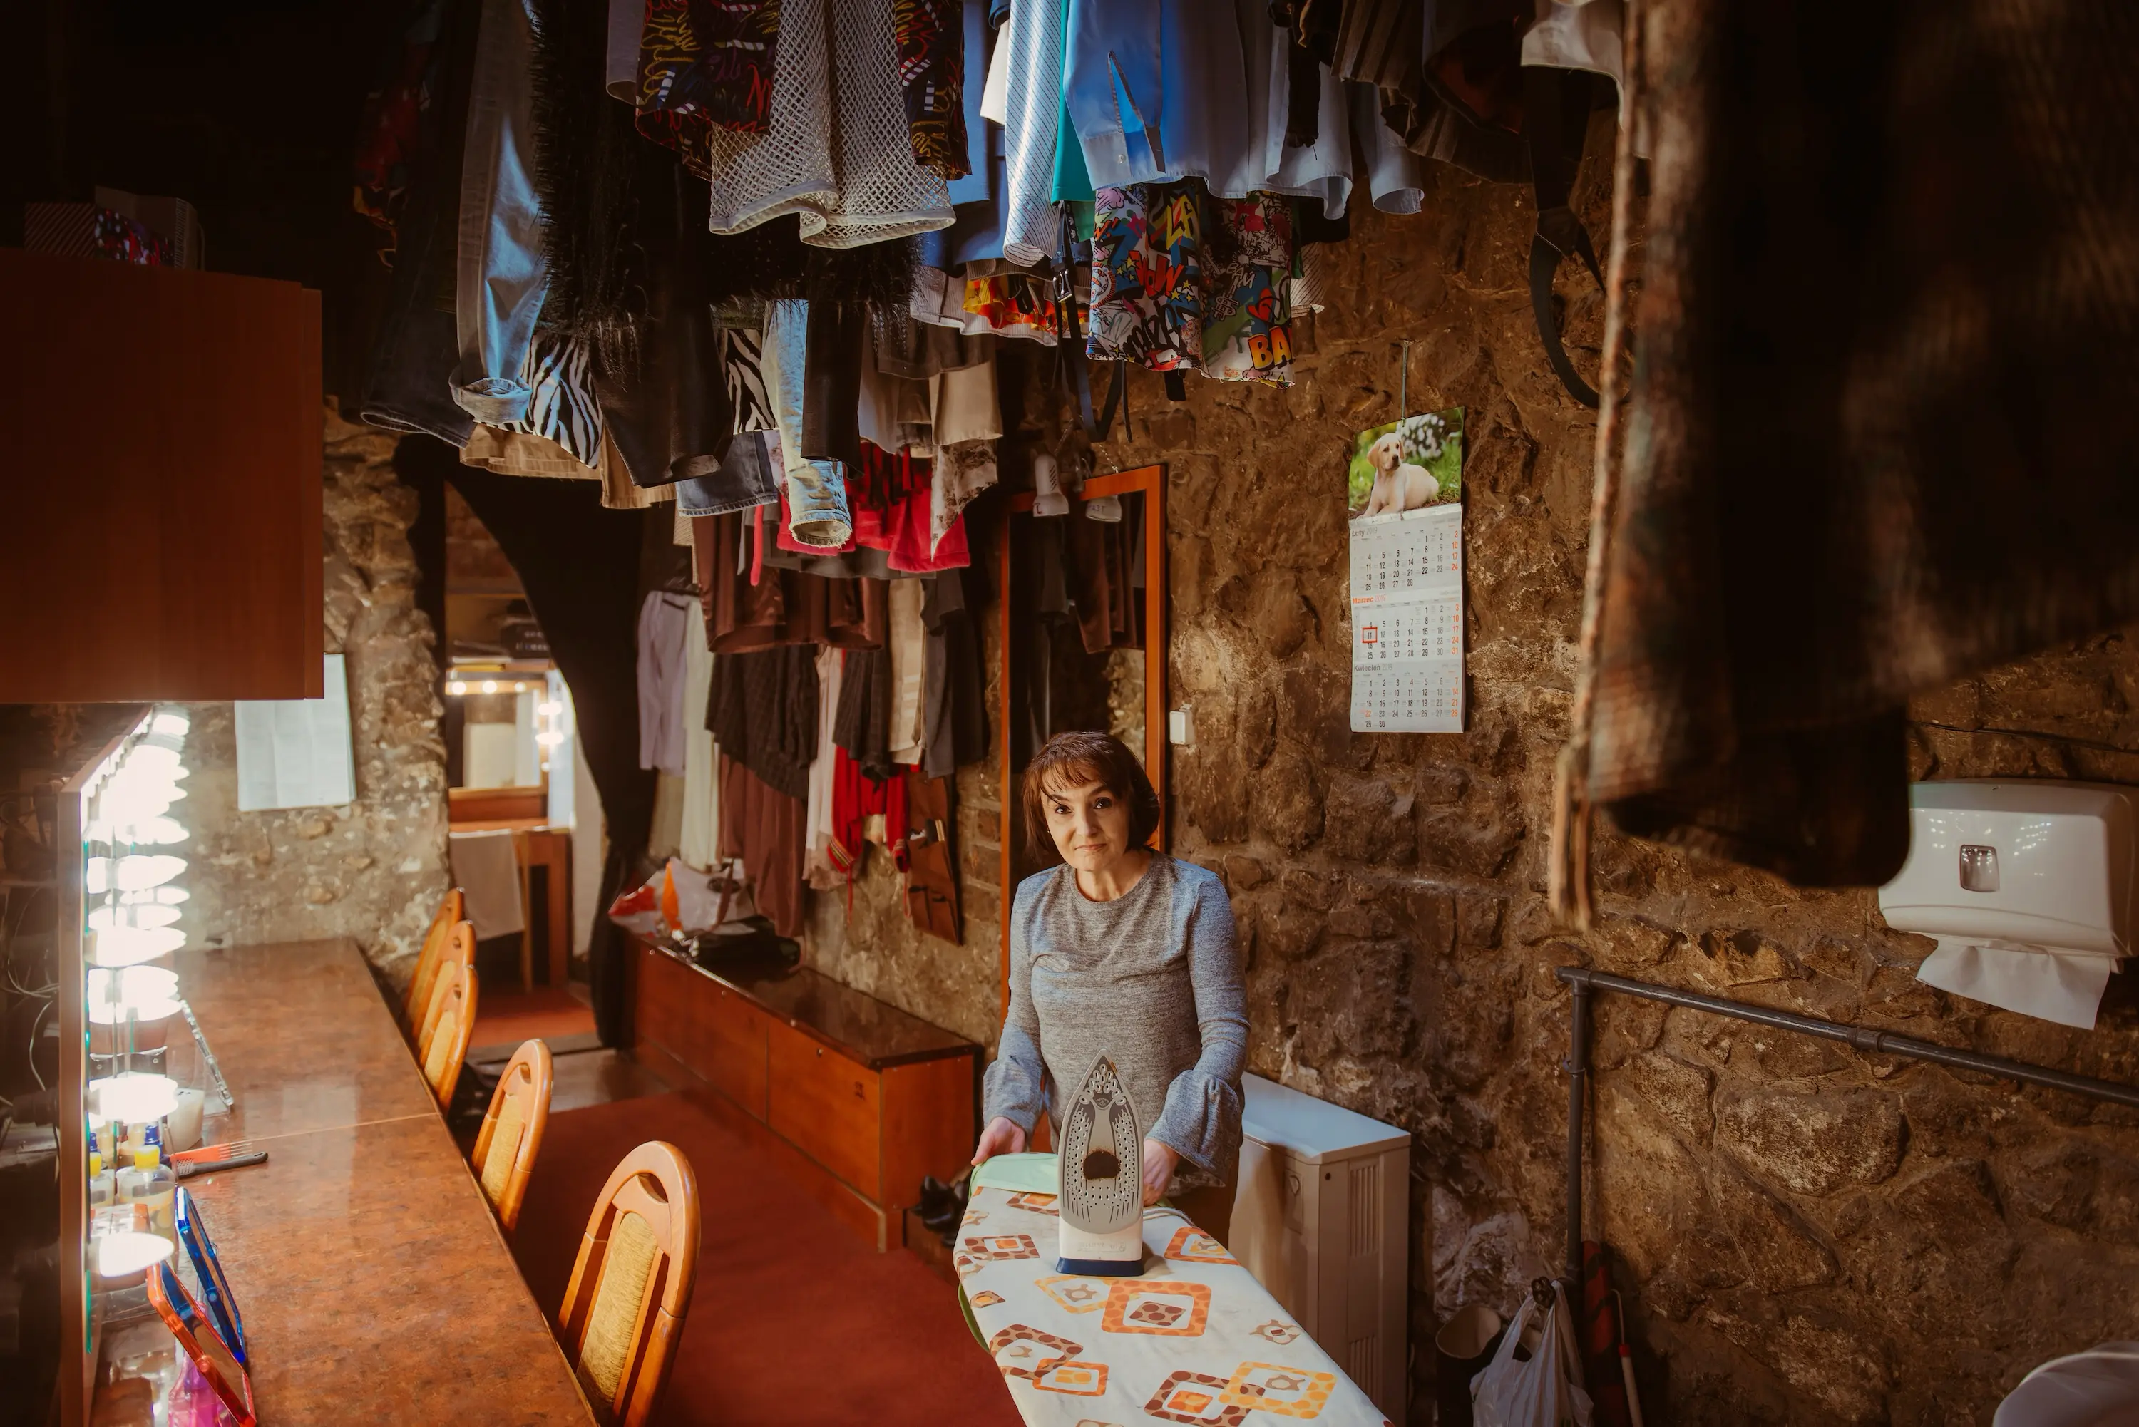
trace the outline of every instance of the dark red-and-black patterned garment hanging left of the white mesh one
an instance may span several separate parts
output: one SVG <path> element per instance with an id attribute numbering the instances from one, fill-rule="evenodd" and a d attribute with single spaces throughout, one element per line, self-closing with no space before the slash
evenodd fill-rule
<path id="1" fill-rule="evenodd" d="M 699 178 L 712 128 L 772 126 L 781 0 L 648 0 L 640 41 L 640 133 Z"/>

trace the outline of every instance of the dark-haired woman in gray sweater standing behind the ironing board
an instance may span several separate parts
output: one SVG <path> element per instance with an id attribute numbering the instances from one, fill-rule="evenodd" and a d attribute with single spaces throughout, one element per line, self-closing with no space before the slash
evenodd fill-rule
<path id="1" fill-rule="evenodd" d="M 1022 781 L 1033 856 L 1018 884 L 1010 1014 L 973 1164 L 1018 1153 L 1042 1110 L 1110 1055 L 1144 1125 L 1144 1202 L 1170 1196 L 1221 1243 L 1241 1162 L 1247 1012 L 1232 905 L 1194 862 L 1151 849 L 1159 798 L 1110 734 L 1057 734 Z"/>

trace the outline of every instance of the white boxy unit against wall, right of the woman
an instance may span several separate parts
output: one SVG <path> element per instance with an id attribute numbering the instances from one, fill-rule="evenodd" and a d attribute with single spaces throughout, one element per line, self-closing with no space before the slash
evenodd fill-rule
<path id="1" fill-rule="evenodd" d="M 1412 1136 L 1241 1076 L 1232 1254 L 1403 1427 Z"/>

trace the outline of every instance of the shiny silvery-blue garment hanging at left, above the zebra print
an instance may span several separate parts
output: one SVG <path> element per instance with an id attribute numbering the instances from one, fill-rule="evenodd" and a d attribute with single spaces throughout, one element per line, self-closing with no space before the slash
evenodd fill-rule
<path id="1" fill-rule="evenodd" d="M 522 368 L 550 289 L 535 193 L 533 60 L 528 0 L 483 0 L 460 160 L 453 400 L 488 426 L 526 419 Z"/>

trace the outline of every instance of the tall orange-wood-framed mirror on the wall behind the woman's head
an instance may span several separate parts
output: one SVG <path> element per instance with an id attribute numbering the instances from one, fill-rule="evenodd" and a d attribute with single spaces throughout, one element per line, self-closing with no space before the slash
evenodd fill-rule
<path id="1" fill-rule="evenodd" d="M 1153 843 L 1166 847 L 1166 469 L 1089 477 L 1063 516 L 1035 516 L 1029 494 L 1010 511 L 997 715 L 1005 909 L 1018 881 L 1052 864 L 1025 845 L 1016 787 L 1055 734 L 1108 730 L 1142 759 L 1161 809 Z M 1007 997 L 1007 916 L 1001 961 Z"/>

